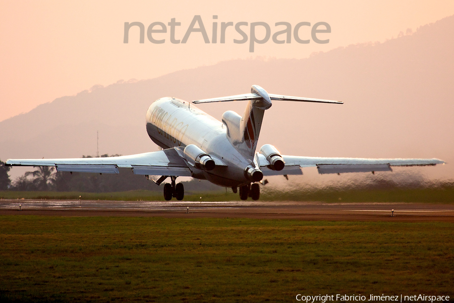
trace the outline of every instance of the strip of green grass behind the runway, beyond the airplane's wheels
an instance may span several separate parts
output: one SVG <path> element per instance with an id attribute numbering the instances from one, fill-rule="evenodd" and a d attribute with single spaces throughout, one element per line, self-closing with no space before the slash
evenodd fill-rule
<path id="1" fill-rule="evenodd" d="M 58 192 L 58 191 L 0 191 L 2 199 L 81 199 L 84 200 L 164 200 L 161 192 L 133 190 L 123 192 Z M 202 197 L 202 199 L 200 199 Z M 234 201 L 238 194 L 231 189 L 209 192 L 188 192 L 187 201 Z M 388 189 L 316 189 L 299 188 L 294 191 L 279 191 L 262 187 L 260 200 L 263 201 L 324 201 L 334 202 L 404 202 L 454 204 L 454 187 L 433 188 L 388 188 Z"/>

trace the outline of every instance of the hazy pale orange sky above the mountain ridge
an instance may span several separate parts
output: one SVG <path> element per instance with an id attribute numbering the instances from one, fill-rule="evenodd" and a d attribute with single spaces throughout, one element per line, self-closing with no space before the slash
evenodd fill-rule
<path id="1" fill-rule="evenodd" d="M 212 65 L 230 59 L 256 57 L 307 58 L 313 52 L 352 43 L 383 42 L 408 28 L 454 14 L 454 2 L 438 1 L 0 1 L 0 121 L 25 113 L 56 97 L 74 95 L 95 84 L 120 79 L 149 79 L 174 71 Z M 271 35 L 282 28 L 276 22 L 327 22 L 327 44 L 276 44 L 271 39 L 255 44 L 233 43 L 241 36 L 231 27 L 224 44 L 204 43 L 192 33 L 185 44 L 138 42 L 131 31 L 123 43 L 124 23 L 181 22 L 176 39 L 182 39 L 195 15 L 200 15 L 211 40 L 213 15 L 221 22 L 266 22 Z M 196 26 L 197 27 L 197 26 Z M 249 26 L 244 30 L 249 35 Z M 260 38 L 264 32 L 257 30 Z M 310 39 L 310 30 L 300 34 Z M 262 35 L 262 36 L 260 36 Z M 282 36 L 281 36 L 282 37 Z M 281 38 L 280 37 L 280 38 Z M 218 37 L 219 39 L 219 37 Z M 250 83 L 249 83 L 250 84 Z M 249 85 L 248 84 L 248 85 Z M 260 83 L 256 83 L 260 84 Z"/>

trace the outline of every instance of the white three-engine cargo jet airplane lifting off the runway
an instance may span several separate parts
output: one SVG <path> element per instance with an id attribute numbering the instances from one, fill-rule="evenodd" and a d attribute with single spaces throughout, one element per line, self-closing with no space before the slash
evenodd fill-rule
<path id="1" fill-rule="evenodd" d="M 208 180 L 231 187 L 240 198 L 257 200 L 263 176 L 301 175 L 302 167 L 317 167 L 320 174 L 392 171 L 391 166 L 443 164 L 438 159 L 360 159 L 285 156 L 270 144 L 256 152 L 265 110 L 272 100 L 343 104 L 343 102 L 269 94 L 253 85 L 251 93 L 193 101 L 193 104 L 247 100 L 243 116 L 233 111 L 222 115 L 222 122 L 199 110 L 190 102 L 173 97 L 157 99 L 148 108 L 148 135 L 162 150 L 150 153 L 83 159 L 9 159 L 9 166 L 54 166 L 59 172 L 119 173 L 131 168 L 134 174 L 161 176 L 153 180 L 164 184 L 164 198 L 182 200 L 184 187 L 179 176 Z"/>

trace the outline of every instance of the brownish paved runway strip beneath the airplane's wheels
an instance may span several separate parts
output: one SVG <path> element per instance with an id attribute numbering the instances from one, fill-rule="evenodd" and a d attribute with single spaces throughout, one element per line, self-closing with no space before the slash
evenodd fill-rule
<path id="1" fill-rule="evenodd" d="M 0 215 L 454 222 L 454 205 L 249 200 L 200 202 L 2 199 Z"/>

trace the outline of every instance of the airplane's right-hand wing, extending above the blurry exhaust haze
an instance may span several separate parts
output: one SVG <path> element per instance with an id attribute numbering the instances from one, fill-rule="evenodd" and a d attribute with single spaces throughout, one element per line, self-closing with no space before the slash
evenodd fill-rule
<path id="1" fill-rule="evenodd" d="M 444 164 L 439 159 L 366 159 L 366 158 L 320 158 L 285 156 L 282 159 L 285 167 L 281 171 L 273 171 L 268 168 L 268 161 L 258 155 L 258 163 L 263 175 L 301 175 L 301 167 L 317 167 L 319 174 L 341 174 L 355 172 L 378 172 L 392 171 L 392 166 L 433 166 Z"/>

